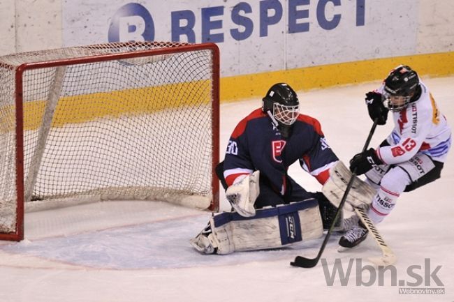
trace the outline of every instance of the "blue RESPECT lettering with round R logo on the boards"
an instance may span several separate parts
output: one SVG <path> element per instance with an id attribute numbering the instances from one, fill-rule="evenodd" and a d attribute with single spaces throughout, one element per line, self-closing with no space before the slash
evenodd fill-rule
<path id="1" fill-rule="evenodd" d="M 159 22 L 166 22 L 159 24 L 158 36 L 174 42 L 224 43 L 229 36 L 237 41 L 265 38 L 270 35 L 272 27 L 281 28 L 282 24 L 285 24 L 286 33 L 298 34 L 316 27 L 332 31 L 342 22 L 349 22 L 350 27 L 365 26 L 365 0 L 349 3 L 342 3 L 341 0 L 316 0 L 314 4 L 310 0 L 249 2 L 251 3 L 239 0 L 234 6 L 172 10 L 168 12 L 169 15 L 156 17 Z M 342 6 L 346 6 L 347 10 L 342 10 Z M 354 17 L 348 18 L 343 14 Z M 161 32 L 163 26 L 170 27 L 170 36 L 166 37 L 169 33 Z M 155 33 L 154 20 L 149 10 L 139 3 L 131 2 L 119 8 L 112 16 L 108 40 L 154 40 Z"/>

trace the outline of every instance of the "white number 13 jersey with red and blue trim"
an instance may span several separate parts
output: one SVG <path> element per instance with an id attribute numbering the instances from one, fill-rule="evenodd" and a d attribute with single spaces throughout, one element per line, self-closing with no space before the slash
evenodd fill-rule
<path id="1" fill-rule="evenodd" d="M 391 112 L 393 132 L 388 136 L 390 146 L 376 150 L 388 165 L 403 163 L 421 152 L 444 163 L 451 147 L 451 128 L 441 114 L 427 86 L 420 82 L 421 96 L 400 112 Z M 382 85 L 377 92 L 383 93 Z"/>

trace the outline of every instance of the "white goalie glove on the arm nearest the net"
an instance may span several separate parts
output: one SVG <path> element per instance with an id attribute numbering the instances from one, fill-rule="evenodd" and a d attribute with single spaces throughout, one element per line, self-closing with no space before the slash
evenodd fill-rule
<path id="1" fill-rule="evenodd" d="M 260 172 L 238 176 L 233 185 L 226 190 L 226 197 L 233 209 L 243 217 L 256 215 L 254 203 L 260 194 L 258 185 Z"/>

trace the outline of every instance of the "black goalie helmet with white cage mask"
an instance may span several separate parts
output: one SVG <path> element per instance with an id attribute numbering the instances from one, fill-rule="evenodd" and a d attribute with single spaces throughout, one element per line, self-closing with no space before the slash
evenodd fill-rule
<path id="1" fill-rule="evenodd" d="M 262 110 L 271 117 L 281 135 L 289 137 L 300 114 L 300 101 L 291 86 L 278 83 L 271 86 L 263 98 Z"/>

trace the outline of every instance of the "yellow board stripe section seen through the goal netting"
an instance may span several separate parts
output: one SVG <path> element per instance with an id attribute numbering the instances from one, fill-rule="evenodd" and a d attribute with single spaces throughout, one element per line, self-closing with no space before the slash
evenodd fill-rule
<path id="1" fill-rule="evenodd" d="M 119 117 L 124 114 L 146 114 L 177 107 L 210 105 L 211 98 L 209 80 L 66 96 L 58 100 L 52 127 L 92 121 L 103 116 Z M 38 128 L 42 123 L 44 110 L 44 100 L 25 102 L 24 130 Z M 13 110 L 10 110 L 9 119 L 14 119 Z"/>

